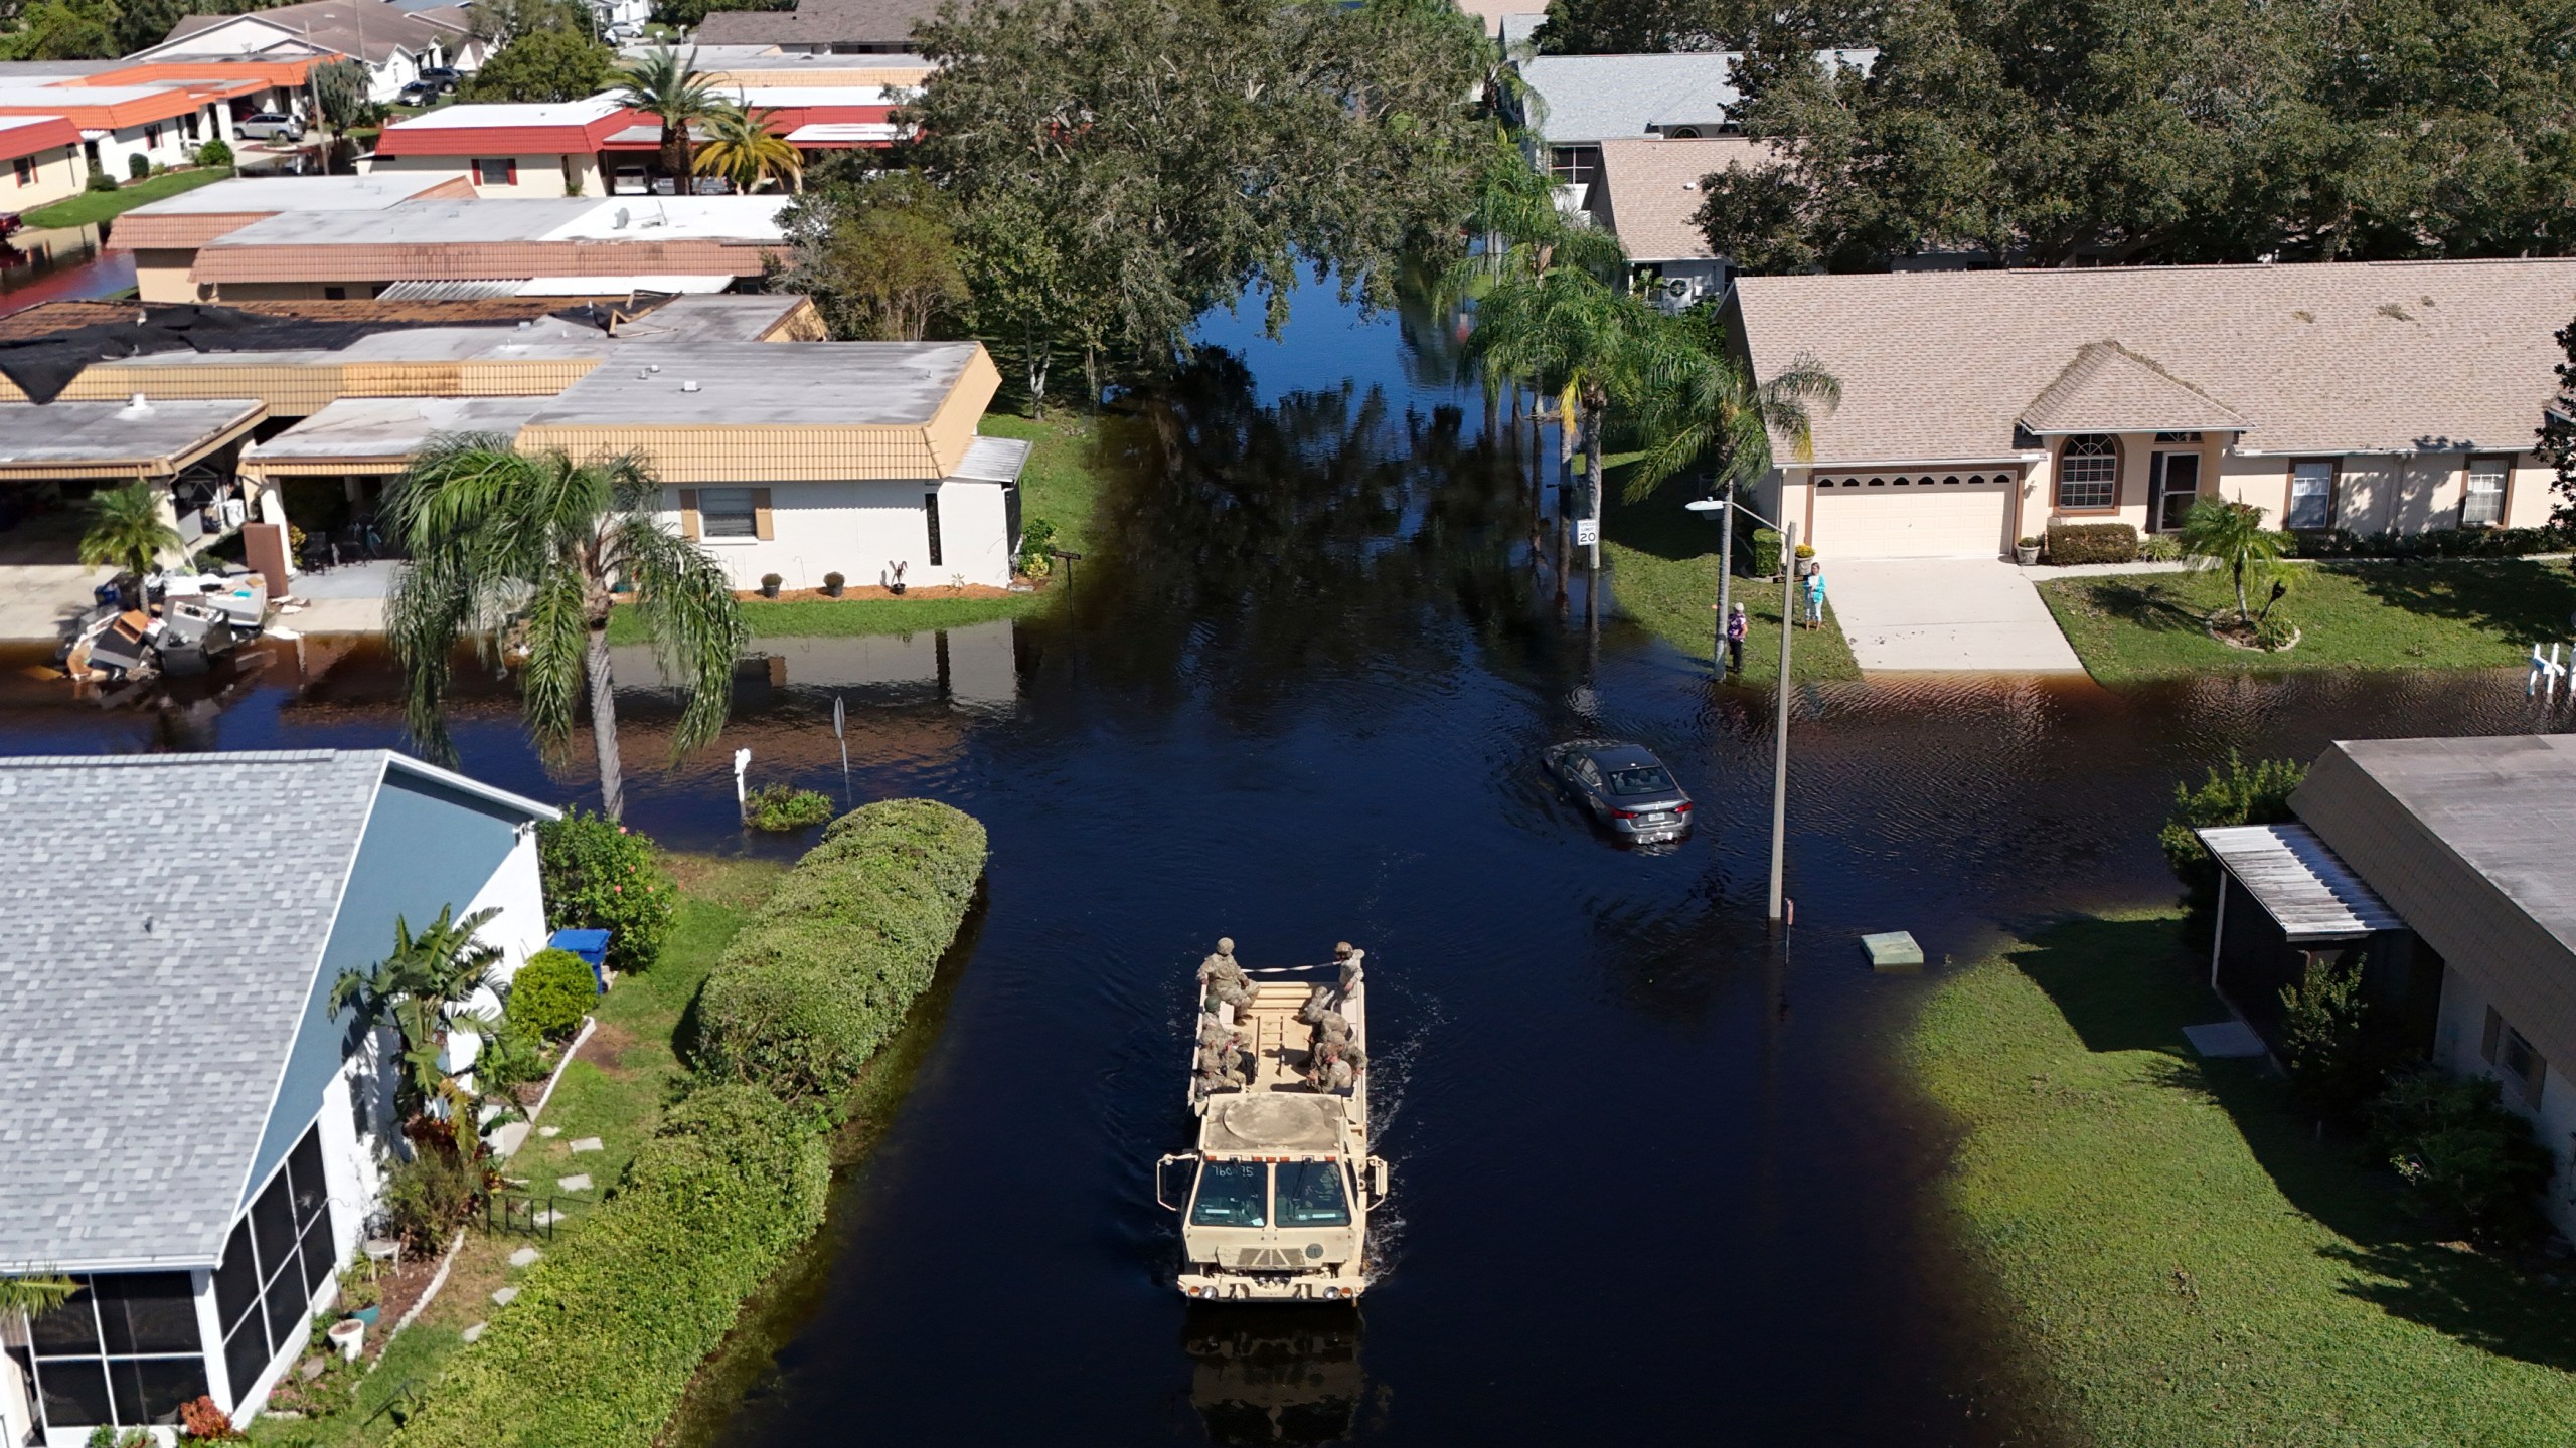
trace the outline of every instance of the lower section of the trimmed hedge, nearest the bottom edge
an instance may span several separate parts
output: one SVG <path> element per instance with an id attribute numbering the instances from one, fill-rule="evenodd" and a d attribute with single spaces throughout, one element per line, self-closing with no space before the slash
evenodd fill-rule
<path id="1" fill-rule="evenodd" d="M 742 1299 L 822 1224 L 829 1180 L 811 1113 L 752 1085 L 685 1098 L 394 1443 L 649 1448 Z"/>

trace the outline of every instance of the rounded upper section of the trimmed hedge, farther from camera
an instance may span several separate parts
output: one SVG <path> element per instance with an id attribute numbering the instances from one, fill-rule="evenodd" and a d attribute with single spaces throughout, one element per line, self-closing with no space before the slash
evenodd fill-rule
<path id="1" fill-rule="evenodd" d="M 698 1069 L 837 1100 L 904 1020 L 966 920 L 984 827 L 927 799 L 842 814 L 698 997 Z"/>

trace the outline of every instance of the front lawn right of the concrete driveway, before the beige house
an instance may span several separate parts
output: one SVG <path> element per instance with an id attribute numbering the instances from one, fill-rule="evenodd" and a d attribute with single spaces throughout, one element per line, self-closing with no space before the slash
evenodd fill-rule
<path id="1" fill-rule="evenodd" d="M 2251 593 L 2251 590 L 2249 590 Z M 2293 564 L 2280 603 L 2295 649 L 2231 649 L 2202 618 L 2236 608 L 2228 575 L 2063 577 L 2040 585 L 2066 642 L 2102 683 L 2200 672 L 2504 667 L 2566 639 L 2576 572 L 2563 562 Z M 2259 605 L 2259 600 L 2257 600 Z"/>

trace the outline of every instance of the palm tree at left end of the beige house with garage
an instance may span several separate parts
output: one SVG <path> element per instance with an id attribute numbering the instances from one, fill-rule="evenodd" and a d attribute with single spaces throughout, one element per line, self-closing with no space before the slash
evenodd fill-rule
<path id="1" fill-rule="evenodd" d="M 1672 317 L 1651 350 L 1641 417 L 1654 446 L 1628 479 L 1628 502 L 1710 453 L 1718 484 L 1741 487 L 1770 472 L 1772 438 L 1808 461 L 1816 456 L 1816 410 L 1842 405 L 1842 381 L 1814 358 L 1798 358 L 1757 384 L 1726 345 L 1726 325 L 1710 307 Z"/>

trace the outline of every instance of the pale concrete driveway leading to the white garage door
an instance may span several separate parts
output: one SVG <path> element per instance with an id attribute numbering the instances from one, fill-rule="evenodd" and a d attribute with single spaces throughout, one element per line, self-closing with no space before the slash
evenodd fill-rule
<path id="1" fill-rule="evenodd" d="M 2081 672 L 2022 569 L 1989 559 L 1826 559 L 1824 590 L 1868 672 Z"/>

